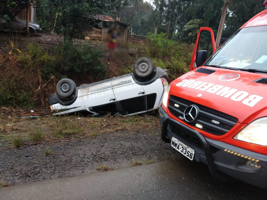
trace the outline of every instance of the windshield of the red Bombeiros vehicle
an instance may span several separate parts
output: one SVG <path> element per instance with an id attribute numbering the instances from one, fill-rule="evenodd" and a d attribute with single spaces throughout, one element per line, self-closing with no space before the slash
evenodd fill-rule
<path id="1" fill-rule="evenodd" d="M 267 26 L 239 29 L 204 64 L 229 69 L 267 70 Z"/>

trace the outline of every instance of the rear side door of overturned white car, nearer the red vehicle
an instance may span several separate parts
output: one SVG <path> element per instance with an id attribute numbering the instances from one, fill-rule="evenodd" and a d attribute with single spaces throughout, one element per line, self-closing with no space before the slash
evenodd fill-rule
<path id="1" fill-rule="evenodd" d="M 113 80 L 111 85 L 121 114 L 127 115 L 147 110 L 145 91 L 132 76 Z"/>

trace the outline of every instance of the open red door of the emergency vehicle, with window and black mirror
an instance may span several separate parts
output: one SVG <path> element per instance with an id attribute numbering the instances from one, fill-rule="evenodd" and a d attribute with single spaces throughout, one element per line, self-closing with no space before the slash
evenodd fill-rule
<path id="1" fill-rule="evenodd" d="M 211 28 L 201 27 L 193 51 L 190 71 L 203 65 L 216 51 L 214 34 Z"/>

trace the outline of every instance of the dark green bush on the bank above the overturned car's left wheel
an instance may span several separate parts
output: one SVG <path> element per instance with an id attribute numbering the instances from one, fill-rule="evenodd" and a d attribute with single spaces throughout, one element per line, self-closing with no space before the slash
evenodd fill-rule
<path id="1" fill-rule="evenodd" d="M 65 42 L 55 46 L 52 52 L 54 55 L 44 60 L 42 73 L 49 78 L 55 75 L 61 78 L 62 75 L 69 78 L 78 74 L 91 74 L 101 77 L 106 73 L 105 64 L 102 62 L 101 49 L 91 45 L 73 45 Z"/>

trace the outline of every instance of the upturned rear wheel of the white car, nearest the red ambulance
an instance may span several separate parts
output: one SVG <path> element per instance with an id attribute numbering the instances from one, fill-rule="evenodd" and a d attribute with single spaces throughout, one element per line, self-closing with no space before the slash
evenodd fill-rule
<path id="1" fill-rule="evenodd" d="M 140 78 L 149 77 L 154 71 L 154 63 L 149 58 L 139 58 L 133 65 L 133 71 Z"/>

